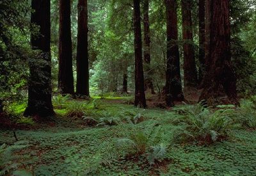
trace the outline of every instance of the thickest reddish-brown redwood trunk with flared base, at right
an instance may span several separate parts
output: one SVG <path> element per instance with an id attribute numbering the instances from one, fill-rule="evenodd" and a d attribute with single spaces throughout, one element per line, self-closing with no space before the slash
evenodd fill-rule
<path id="1" fill-rule="evenodd" d="M 205 9 L 206 73 L 200 100 L 215 105 L 220 100 L 223 102 L 222 98 L 227 95 L 226 103 L 237 103 L 236 77 L 230 54 L 229 1 L 207 0 Z"/>

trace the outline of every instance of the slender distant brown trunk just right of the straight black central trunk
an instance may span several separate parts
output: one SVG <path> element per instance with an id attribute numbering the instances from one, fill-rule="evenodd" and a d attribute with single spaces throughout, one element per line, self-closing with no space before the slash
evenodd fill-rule
<path id="1" fill-rule="evenodd" d="M 154 84 L 152 81 L 152 74 L 150 69 L 150 26 L 149 26 L 149 0 L 144 0 L 143 5 L 143 24 L 144 24 L 144 61 L 147 64 L 145 67 L 145 72 L 147 76 L 145 77 L 145 90 L 150 88 L 152 94 L 154 92 Z"/>

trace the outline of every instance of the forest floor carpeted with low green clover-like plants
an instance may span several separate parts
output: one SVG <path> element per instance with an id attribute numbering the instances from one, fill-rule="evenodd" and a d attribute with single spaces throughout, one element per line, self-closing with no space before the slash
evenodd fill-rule
<path id="1" fill-rule="evenodd" d="M 179 116 L 173 109 L 134 108 L 129 104 L 131 97 L 94 98 L 90 103 L 79 100 L 88 105 L 84 109 L 87 121 L 81 116 L 68 117 L 68 108 L 59 108 L 51 122 L 17 129 L 17 138 L 27 143 L 17 153 L 22 156 L 16 161 L 19 168 L 33 175 L 256 173 L 256 131 L 233 129 L 227 140 L 209 145 L 178 143 L 175 134 L 182 125 L 173 124 L 173 118 Z M 77 100 L 66 104 L 72 102 Z M 17 111 L 21 113 L 24 106 L 16 105 Z M 135 142 L 127 147 L 131 139 Z M 0 143 L 15 143 L 13 131 L 0 129 Z M 164 148 L 163 156 L 150 162 L 150 148 L 157 147 Z M 144 151 L 139 154 L 138 150 Z"/>

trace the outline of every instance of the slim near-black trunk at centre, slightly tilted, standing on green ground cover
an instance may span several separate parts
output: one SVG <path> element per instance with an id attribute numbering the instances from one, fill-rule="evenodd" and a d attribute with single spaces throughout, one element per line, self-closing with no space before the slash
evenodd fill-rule
<path id="1" fill-rule="evenodd" d="M 135 101 L 134 101 L 134 106 L 140 106 L 140 108 L 147 108 L 145 92 L 144 92 L 140 0 L 134 0 L 133 3 L 134 3 L 134 51 L 135 51 Z"/>

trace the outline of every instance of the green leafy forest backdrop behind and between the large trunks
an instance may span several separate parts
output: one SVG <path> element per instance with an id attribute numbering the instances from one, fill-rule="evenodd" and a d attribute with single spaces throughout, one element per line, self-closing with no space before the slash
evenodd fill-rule
<path id="1" fill-rule="evenodd" d="M 77 8 L 77 4 L 83 2 L 86 1 L 70 1 L 70 26 L 68 26 L 67 22 L 63 22 L 63 29 L 67 30 L 67 33 L 63 31 L 63 34 L 61 34 L 59 28 L 61 24 L 60 4 L 58 1 L 51 1 L 51 14 L 49 14 L 51 15 L 51 65 L 49 67 L 51 67 L 52 71 L 52 81 L 49 84 L 51 84 L 52 93 L 73 94 L 77 92 L 78 97 L 80 95 L 82 97 L 83 95 L 88 96 L 89 90 L 86 90 L 88 83 L 81 85 L 79 75 L 90 77 L 90 95 L 103 95 L 104 93 L 113 92 L 134 93 L 134 85 L 136 85 L 134 82 L 134 74 L 136 73 L 134 72 L 134 4 L 126 0 L 88 1 L 88 6 L 86 6 L 88 8 L 88 43 L 83 43 L 83 41 L 79 40 L 86 37 L 83 34 L 87 31 L 85 30 L 79 34 L 79 22 L 77 23 L 77 20 L 79 21 L 79 17 L 81 17 L 79 16 L 79 6 Z M 171 3 L 170 7 L 172 7 L 172 3 L 175 4 L 175 1 L 168 2 Z M 140 3 L 141 22 L 139 23 L 142 31 L 144 72 L 142 72 L 141 68 L 137 70 L 144 74 L 145 90 L 149 90 L 151 93 L 158 93 L 159 96 L 163 92 L 168 95 L 166 93 L 166 69 L 168 70 L 166 68 L 168 67 L 168 64 L 166 65 L 168 58 L 168 51 L 166 51 L 166 47 L 168 48 L 168 42 L 166 43 L 166 21 L 170 21 L 170 19 L 166 20 L 166 4 L 164 1 L 150 1 L 150 3 L 147 3 L 148 1 L 141 1 Z M 200 11 L 200 1 L 187 1 L 187 3 L 186 1 L 177 1 L 176 3 L 178 36 L 177 40 L 175 40 L 175 45 L 179 47 L 179 52 L 177 52 L 179 56 L 177 57 L 180 58 L 181 68 L 181 82 L 179 84 L 182 85 L 185 96 L 192 95 L 193 97 L 197 89 L 200 88 L 200 81 L 202 81 L 202 58 L 204 58 L 204 54 L 202 56 L 204 51 L 202 50 L 204 50 L 204 47 L 200 46 L 200 18 L 198 17 L 198 15 L 200 16 L 198 12 L 202 12 L 202 10 Z M 66 7 L 68 7 L 67 5 Z M 29 79 L 29 67 L 35 68 L 30 71 L 37 72 L 38 76 L 44 79 L 45 75 L 40 75 L 40 70 L 45 63 L 44 60 L 38 60 L 38 51 L 31 49 L 29 44 L 31 33 L 35 38 L 40 33 L 38 26 L 31 24 L 31 12 L 32 14 L 35 13 L 35 8 L 31 10 L 31 1 L 2 1 L 0 6 L 0 100 L 1 109 L 3 109 L 3 104 L 27 99 L 28 83 L 29 80 L 31 81 L 31 77 Z M 63 6 L 65 7 L 65 4 Z M 47 14 L 46 12 L 41 13 Z M 86 13 L 84 12 L 84 14 Z M 65 20 L 68 17 L 68 8 L 64 8 L 62 18 Z M 87 19 L 87 17 L 84 18 Z M 234 68 L 239 97 L 255 94 L 256 90 L 255 20 L 255 1 L 230 1 L 231 63 Z M 184 24 L 186 21 L 190 23 Z M 149 22 L 149 26 L 147 26 L 147 22 Z M 68 34 L 68 28 L 70 28 L 70 34 Z M 145 34 L 147 30 L 150 31 L 148 34 L 150 38 L 147 38 L 147 34 Z M 71 38 L 71 41 L 68 38 Z M 148 45 L 149 41 L 150 45 Z M 66 46 L 62 45 L 61 48 L 61 42 Z M 84 49 L 87 45 L 88 53 Z M 81 49 L 79 49 L 79 46 Z M 185 49 L 186 46 L 187 49 Z M 150 53 L 147 53 L 147 51 L 150 51 Z M 150 60 L 147 58 L 148 54 Z M 192 54 L 195 56 L 194 58 Z M 77 63 L 79 55 L 82 58 L 88 55 L 88 63 Z M 66 63 L 69 68 L 65 68 L 65 64 L 61 68 L 61 57 L 72 58 Z M 191 64 L 185 64 L 186 57 L 187 60 L 192 60 Z M 66 60 L 68 61 L 68 59 Z M 194 63 L 193 60 L 195 61 Z M 87 67 L 88 76 L 86 76 Z M 183 68 L 190 69 L 189 73 L 186 74 Z M 77 71 L 81 73 L 77 74 Z M 195 73 L 194 78 L 191 75 L 192 72 Z M 70 77 L 72 73 L 73 76 Z M 65 74 L 69 75 L 69 78 L 65 77 Z M 64 78 L 61 79 L 63 75 Z M 141 73 L 138 75 L 141 75 Z M 191 81 L 193 79 L 196 80 Z M 45 80 L 47 82 L 47 76 Z M 65 84 L 69 84 L 71 89 L 64 90 L 60 80 L 65 80 L 67 82 Z M 187 83 L 186 80 L 187 82 L 188 80 L 192 82 L 192 90 L 190 88 L 186 90 L 186 86 L 191 84 Z M 193 85 L 193 82 L 195 85 Z M 33 84 L 38 85 L 40 83 Z M 34 87 L 34 89 L 36 88 Z M 142 90 L 140 91 L 143 92 Z M 135 95 L 137 94 L 135 93 Z M 171 94 L 172 99 L 175 99 L 173 93 Z M 44 99 L 44 96 L 41 98 Z M 172 103 L 170 102 L 169 105 Z"/>

